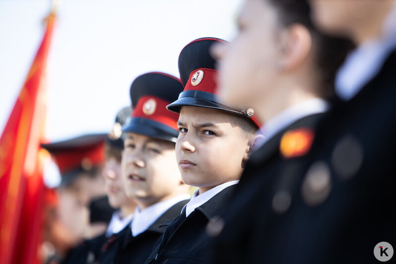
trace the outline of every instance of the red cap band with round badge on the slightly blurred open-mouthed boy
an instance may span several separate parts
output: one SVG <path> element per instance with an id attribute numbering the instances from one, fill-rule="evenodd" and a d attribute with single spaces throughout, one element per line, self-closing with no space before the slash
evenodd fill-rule
<path id="1" fill-rule="evenodd" d="M 142 96 L 133 108 L 132 118 L 150 119 L 178 130 L 179 114 L 166 110 L 166 106 L 170 103 L 153 95 Z"/>

